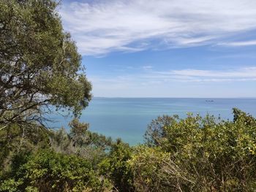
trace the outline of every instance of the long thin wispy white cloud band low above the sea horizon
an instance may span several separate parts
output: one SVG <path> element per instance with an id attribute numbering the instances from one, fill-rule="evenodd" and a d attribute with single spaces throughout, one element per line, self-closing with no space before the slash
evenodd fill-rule
<path id="1" fill-rule="evenodd" d="M 256 67 L 245 67 L 229 71 L 182 69 L 165 72 L 143 70 L 138 74 L 127 74 L 116 77 L 91 77 L 92 82 L 112 85 L 150 85 L 166 82 L 238 82 L 256 81 Z M 112 86 L 111 85 L 111 86 Z M 108 86 L 107 86 L 108 87 Z"/>

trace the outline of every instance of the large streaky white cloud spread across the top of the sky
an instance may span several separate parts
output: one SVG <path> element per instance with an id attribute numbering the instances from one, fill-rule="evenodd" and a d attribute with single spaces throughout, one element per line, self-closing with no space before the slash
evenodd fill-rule
<path id="1" fill-rule="evenodd" d="M 73 1 L 60 13 L 83 55 L 205 45 L 256 28 L 255 0 Z"/>

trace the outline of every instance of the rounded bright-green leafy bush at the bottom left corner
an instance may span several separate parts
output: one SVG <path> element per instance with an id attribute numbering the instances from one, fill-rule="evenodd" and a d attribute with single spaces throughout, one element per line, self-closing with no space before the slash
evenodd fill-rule
<path id="1" fill-rule="evenodd" d="M 7 185 L 20 191 L 102 191 L 105 188 L 89 161 L 53 150 L 40 150 L 30 155 L 14 179 L 16 183 L 13 179 L 7 180 L 1 188 L 7 188 Z"/>

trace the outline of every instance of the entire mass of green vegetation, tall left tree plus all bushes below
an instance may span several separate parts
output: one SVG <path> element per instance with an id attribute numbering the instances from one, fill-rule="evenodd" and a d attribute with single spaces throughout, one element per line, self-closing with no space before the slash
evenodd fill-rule
<path id="1" fill-rule="evenodd" d="M 51 0 L 0 0 L 0 191 L 256 191 L 256 119 L 153 120 L 129 147 L 78 118 L 91 99 Z M 65 128 L 45 114 L 66 108 Z"/>

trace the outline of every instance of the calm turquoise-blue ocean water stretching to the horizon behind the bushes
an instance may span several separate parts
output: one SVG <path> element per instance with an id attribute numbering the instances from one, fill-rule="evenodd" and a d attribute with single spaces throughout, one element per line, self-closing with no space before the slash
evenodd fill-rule
<path id="1" fill-rule="evenodd" d="M 187 112 L 233 119 L 237 107 L 256 117 L 256 99 L 173 99 L 173 98 L 94 98 L 80 117 L 90 130 L 121 138 L 130 145 L 143 143 L 151 120 L 162 115 L 186 117 Z M 68 129 L 69 118 L 53 115 L 55 126 Z"/>

